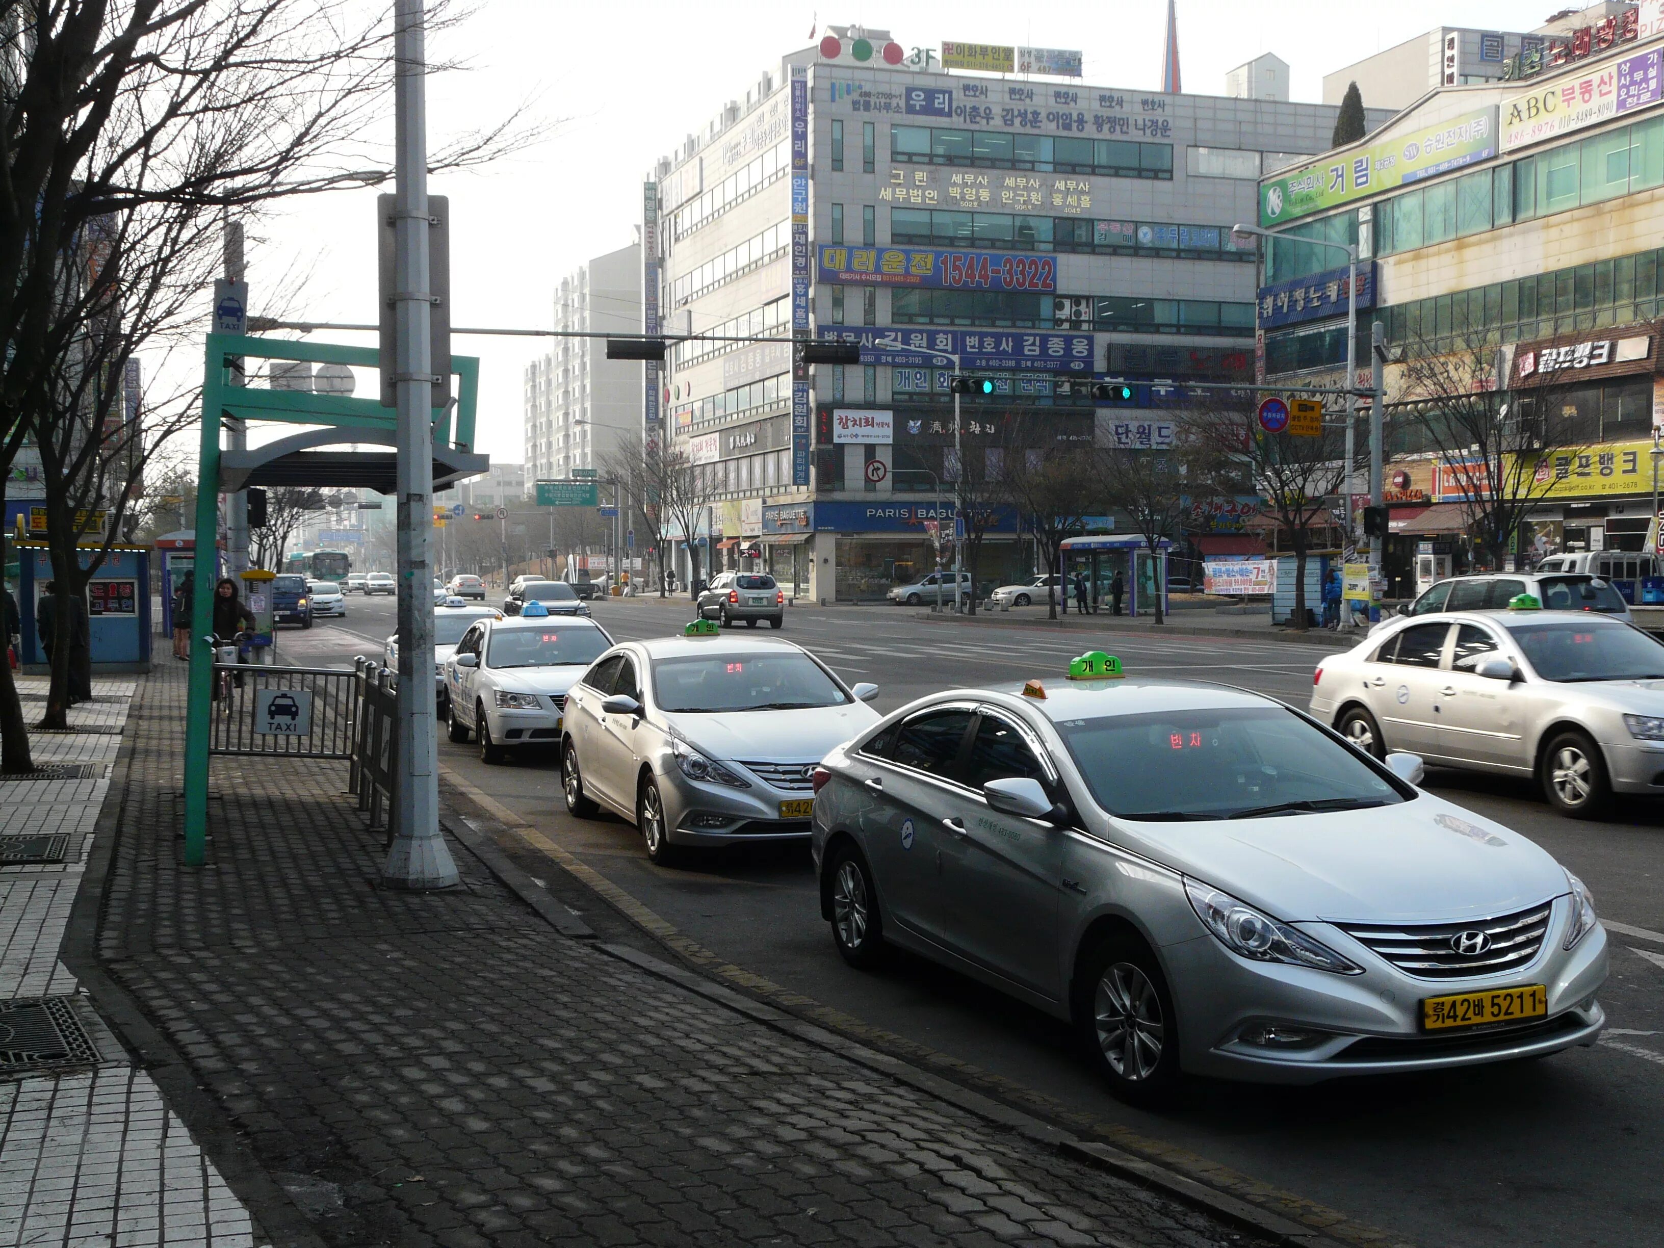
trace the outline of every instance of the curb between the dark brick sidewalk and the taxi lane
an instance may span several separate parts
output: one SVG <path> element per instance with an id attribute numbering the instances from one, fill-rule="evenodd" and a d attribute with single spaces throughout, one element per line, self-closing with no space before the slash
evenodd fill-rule
<path id="1" fill-rule="evenodd" d="M 469 780 L 458 775 L 449 767 L 441 764 L 441 770 L 448 782 L 456 789 L 456 792 L 473 802 L 476 807 L 488 812 L 496 822 L 509 829 L 529 845 L 547 854 L 559 867 L 577 877 L 582 884 L 592 889 L 602 900 L 609 902 L 616 910 L 619 910 L 626 919 L 641 927 L 647 935 L 666 945 L 672 952 L 681 952 L 689 957 L 696 965 L 711 963 L 716 965 L 721 960 L 709 950 L 704 950 L 696 942 L 681 935 L 672 925 L 664 922 L 651 909 L 642 905 L 636 897 L 627 894 L 624 889 L 617 887 L 604 875 L 596 872 L 592 867 L 579 862 L 571 852 L 556 845 L 546 834 L 527 824 L 524 819 L 516 815 L 506 805 L 498 802 L 489 794 L 481 792 Z M 468 819 L 473 824 L 471 817 Z M 478 829 L 476 829 L 478 830 Z M 504 885 L 509 887 L 516 895 L 531 904 L 542 914 L 542 907 L 537 907 L 536 894 L 542 890 L 537 889 L 531 877 L 518 869 L 514 874 L 524 880 L 521 887 L 516 887 L 509 879 L 503 879 Z M 531 890 L 532 895 L 526 895 L 524 890 Z M 547 900 L 547 897 L 544 897 Z M 930 1073 L 922 1067 L 909 1062 L 902 1057 L 894 1057 L 882 1050 L 872 1048 L 852 1040 L 850 1037 L 820 1027 L 809 1022 L 789 1010 L 784 1010 L 765 1002 L 759 1002 L 747 997 L 734 988 L 729 988 L 709 975 L 692 970 L 689 967 L 676 965 L 666 962 L 664 958 L 644 953 L 639 948 L 629 945 L 619 945 L 616 942 L 597 940 L 592 948 L 607 953 L 621 962 L 627 962 L 637 970 L 642 970 L 656 978 L 676 983 L 689 992 L 704 997 L 709 1002 L 724 1005 L 745 1015 L 747 1018 L 759 1022 L 765 1027 L 774 1028 L 790 1035 L 804 1043 L 814 1045 L 815 1048 L 825 1050 L 844 1057 L 867 1070 L 880 1075 L 889 1075 L 890 1078 L 900 1080 L 909 1087 L 937 1097 L 955 1108 L 972 1113 L 985 1122 L 992 1122 L 997 1127 L 1003 1127 L 1010 1132 L 1022 1135 L 1025 1140 L 1040 1145 L 1043 1148 L 1055 1150 L 1063 1156 L 1075 1161 L 1090 1165 L 1097 1170 L 1105 1170 L 1113 1173 L 1128 1183 L 1135 1183 L 1146 1190 L 1156 1190 L 1163 1195 L 1181 1201 L 1191 1208 L 1201 1210 L 1210 1216 L 1218 1218 L 1238 1230 L 1250 1231 L 1253 1235 L 1261 1235 L 1271 1241 L 1283 1245 L 1285 1248 L 1351 1248 L 1346 1241 L 1336 1240 L 1325 1231 L 1298 1223 L 1291 1218 L 1285 1218 L 1271 1210 L 1266 1210 L 1251 1201 L 1231 1196 L 1218 1188 L 1208 1186 L 1195 1178 L 1190 1178 L 1170 1166 L 1158 1165 L 1155 1161 L 1145 1160 L 1133 1153 L 1123 1151 L 1112 1145 L 1102 1143 L 1098 1140 L 1088 1140 L 1075 1135 L 1073 1132 L 1053 1127 L 1052 1123 L 1038 1118 L 1023 1110 L 1013 1108 L 1005 1102 L 988 1097 L 980 1092 L 973 1092 L 962 1083 L 957 1083 L 942 1075 Z M 799 998 L 802 1000 L 802 998 Z M 1326 1211 L 1325 1211 L 1326 1213 Z M 1331 1215 L 1336 1216 L 1336 1215 Z M 1373 1230 L 1373 1228 L 1371 1228 Z M 1396 1248 L 1404 1248 L 1408 1241 L 1399 1240 L 1386 1233 L 1374 1231 L 1371 1236 L 1373 1243 L 1394 1245 Z M 1356 1243 L 1356 1241 L 1353 1241 Z"/>

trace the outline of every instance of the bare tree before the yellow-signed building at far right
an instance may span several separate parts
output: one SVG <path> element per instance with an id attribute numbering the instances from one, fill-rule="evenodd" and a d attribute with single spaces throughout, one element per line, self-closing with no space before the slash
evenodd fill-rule
<path id="1" fill-rule="evenodd" d="M 1493 569 L 1514 552 L 1526 518 L 1554 488 L 1546 461 L 1554 451 L 1601 439 L 1599 428 L 1549 418 L 1541 386 L 1561 379 L 1553 368 L 1543 371 L 1533 359 L 1509 389 L 1511 358 L 1484 329 L 1449 341 L 1413 339 L 1396 403 L 1386 409 L 1389 428 L 1408 426 L 1414 441 L 1438 454 L 1441 476 L 1459 489 L 1468 534 Z"/>

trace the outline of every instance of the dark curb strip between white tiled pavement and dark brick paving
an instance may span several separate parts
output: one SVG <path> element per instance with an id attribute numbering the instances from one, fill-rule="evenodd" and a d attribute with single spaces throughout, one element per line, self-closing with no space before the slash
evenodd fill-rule
<path id="1" fill-rule="evenodd" d="M 326 1248 L 290 1195 L 260 1165 L 220 1103 L 196 1083 L 185 1057 L 150 1022 L 138 1000 L 115 982 L 98 957 L 98 922 L 103 915 L 110 860 L 115 857 L 116 830 L 126 810 L 126 789 L 133 770 L 138 701 L 140 691 L 135 687 L 128 702 L 126 727 L 121 732 L 121 749 L 110 765 L 110 790 L 105 792 L 98 822 L 93 825 L 92 854 L 82 884 L 75 890 L 58 958 L 92 997 L 103 1022 L 126 1050 L 131 1065 L 156 1082 L 168 1108 L 185 1123 L 231 1193 L 248 1208 L 255 1243 Z"/>

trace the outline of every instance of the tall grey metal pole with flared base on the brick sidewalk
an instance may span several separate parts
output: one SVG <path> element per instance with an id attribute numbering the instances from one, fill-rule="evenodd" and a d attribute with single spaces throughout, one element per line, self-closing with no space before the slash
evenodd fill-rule
<path id="1" fill-rule="evenodd" d="M 459 884 L 439 832 L 439 759 L 433 696 L 433 296 L 428 288 L 428 88 L 423 0 L 396 0 L 394 351 L 398 396 L 399 714 L 393 847 L 381 882 L 394 889 Z"/>

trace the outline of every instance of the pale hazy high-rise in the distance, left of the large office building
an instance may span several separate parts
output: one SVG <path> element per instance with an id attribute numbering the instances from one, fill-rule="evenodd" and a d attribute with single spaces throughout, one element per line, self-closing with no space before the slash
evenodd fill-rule
<path id="1" fill-rule="evenodd" d="M 561 280 L 554 328 L 564 333 L 641 333 L 641 245 L 596 256 Z M 641 364 L 607 361 L 599 338 L 556 338 L 526 366 L 526 479 L 567 479 L 601 468 L 619 438 L 642 428 Z"/>

